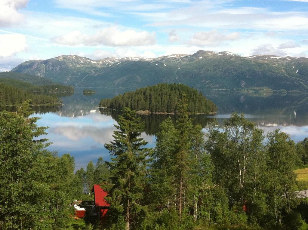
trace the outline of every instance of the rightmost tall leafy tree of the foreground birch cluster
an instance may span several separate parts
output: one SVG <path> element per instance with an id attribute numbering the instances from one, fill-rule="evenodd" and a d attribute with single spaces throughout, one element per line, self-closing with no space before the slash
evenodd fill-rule
<path id="1" fill-rule="evenodd" d="M 268 215 L 272 216 L 276 223 L 281 223 L 282 212 L 289 212 L 297 203 L 294 193 L 296 175 L 293 171 L 295 144 L 289 135 L 279 130 L 270 132 L 267 139 Z"/>

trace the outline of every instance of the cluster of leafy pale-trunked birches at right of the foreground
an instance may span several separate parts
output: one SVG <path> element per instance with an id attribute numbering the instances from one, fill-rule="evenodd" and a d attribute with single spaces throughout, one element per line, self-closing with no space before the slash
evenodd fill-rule
<path id="1" fill-rule="evenodd" d="M 215 184 L 225 188 L 233 209 L 245 211 L 244 216 L 229 215 L 230 223 L 281 227 L 282 217 L 297 204 L 296 153 L 290 137 L 275 130 L 264 145 L 263 132 L 236 113 L 224 122 L 222 131 L 213 126 L 207 136 Z M 232 213 L 240 214 L 231 209 Z"/>

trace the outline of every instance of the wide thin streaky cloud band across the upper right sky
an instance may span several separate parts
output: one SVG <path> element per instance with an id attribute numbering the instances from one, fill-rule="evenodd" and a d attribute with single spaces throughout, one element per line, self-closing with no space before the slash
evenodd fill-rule
<path id="1" fill-rule="evenodd" d="M 201 4 L 203 3 L 203 4 Z M 136 13 L 148 26 L 192 26 L 248 30 L 307 30 L 305 11 L 271 11 L 259 7 L 226 7 L 211 1 L 192 4 L 169 12 Z M 149 20 L 150 19 L 150 20 Z"/>

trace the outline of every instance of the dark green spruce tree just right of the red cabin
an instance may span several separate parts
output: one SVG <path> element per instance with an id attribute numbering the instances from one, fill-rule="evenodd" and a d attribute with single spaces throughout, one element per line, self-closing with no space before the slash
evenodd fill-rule
<path id="1" fill-rule="evenodd" d="M 137 214 L 145 208 L 141 202 L 150 150 L 143 147 L 147 144 L 140 138 L 144 124 L 139 123 L 140 118 L 137 118 L 136 112 L 124 108 L 119 119 L 119 125 L 115 125 L 118 130 L 114 131 L 114 141 L 105 144 L 112 155 L 108 163 L 112 186 L 108 189 L 107 200 L 111 204 L 111 212 L 114 210 L 123 216 L 125 228 L 129 230 Z"/>

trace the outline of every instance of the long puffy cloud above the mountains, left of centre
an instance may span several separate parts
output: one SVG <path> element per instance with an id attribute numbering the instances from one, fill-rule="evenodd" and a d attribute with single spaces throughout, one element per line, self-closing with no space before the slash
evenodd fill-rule
<path id="1" fill-rule="evenodd" d="M 97 31 L 94 35 L 73 31 L 62 36 L 54 37 L 52 40 L 56 43 L 69 46 L 143 46 L 156 43 L 155 32 L 120 30 L 118 26 L 106 27 Z"/>

